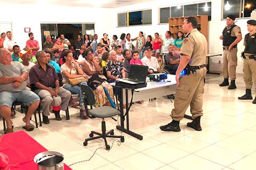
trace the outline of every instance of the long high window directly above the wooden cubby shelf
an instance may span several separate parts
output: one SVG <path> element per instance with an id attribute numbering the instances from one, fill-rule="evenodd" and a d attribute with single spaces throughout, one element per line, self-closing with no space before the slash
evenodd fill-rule
<path id="1" fill-rule="evenodd" d="M 160 8 L 160 23 L 168 23 L 168 18 L 189 17 L 195 15 L 208 15 L 208 20 L 211 20 L 211 14 L 211 2 L 165 7 Z"/>

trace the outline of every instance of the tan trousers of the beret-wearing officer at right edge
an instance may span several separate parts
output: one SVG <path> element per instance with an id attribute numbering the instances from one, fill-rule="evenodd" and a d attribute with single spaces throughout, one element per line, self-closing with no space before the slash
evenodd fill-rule
<path id="1" fill-rule="evenodd" d="M 244 82 L 245 88 L 251 89 L 256 85 L 256 61 L 254 59 L 244 59 Z"/>

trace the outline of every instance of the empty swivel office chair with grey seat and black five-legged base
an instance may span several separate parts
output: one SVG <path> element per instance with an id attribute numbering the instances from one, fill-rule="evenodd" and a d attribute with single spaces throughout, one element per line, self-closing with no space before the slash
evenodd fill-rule
<path id="1" fill-rule="evenodd" d="M 94 108 L 94 109 L 91 109 L 90 111 L 88 111 L 87 105 L 94 105 L 96 102 L 93 90 L 87 85 L 81 85 L 80 88 L 82 91 L 82 98 L 84 99 L 84 107 L 85 107 L 87 116 L 89 116 L 90 118 L 102 118 L 102 133 L 91 131 L 91 133 L 89 134 L 90 138 L 87 138 L 84 140 L 84 146 L 87 146 L 88 141 L 90 141 L 90 140 L 103 138 L 105 141 L 106 149 L 109 150 L 110 145 L 108 145 L 108 142 L 106 139 L 107 137 L 120 138 L 121 142 L 125 142 L 124 136 L 114 136 L 113 129 L 106 132 L 105 118 L 120 115 L 120 111 L 115 108 L 109 107 L 109 106 Z M 98 136 L 93 137 L 94 134 L 96 134 Z"/>

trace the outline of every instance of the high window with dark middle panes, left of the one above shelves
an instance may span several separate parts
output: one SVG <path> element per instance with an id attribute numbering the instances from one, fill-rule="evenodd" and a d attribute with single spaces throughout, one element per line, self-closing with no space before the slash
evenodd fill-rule
<path id="1" fill-rule="evenodd" d="M 117 14 L 117 26 L 137 26 L 152 23 L 152 10 Z"/>

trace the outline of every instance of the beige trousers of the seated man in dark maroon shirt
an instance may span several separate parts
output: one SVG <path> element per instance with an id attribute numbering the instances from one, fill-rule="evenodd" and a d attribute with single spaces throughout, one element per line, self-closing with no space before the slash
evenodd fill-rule
<path id="1" fill-rule="evenodd" d="M 49 91 L 41 89 L 35 90 L 35 93 L 42 99 L 41 104 L 44 116 L 50 115 L 49 108 L 51 105 L 61 105 L 61 110 L 66 111 L 71 97 L 70 91 L 61 87 L 57 96 L 52 96 Z"/>

